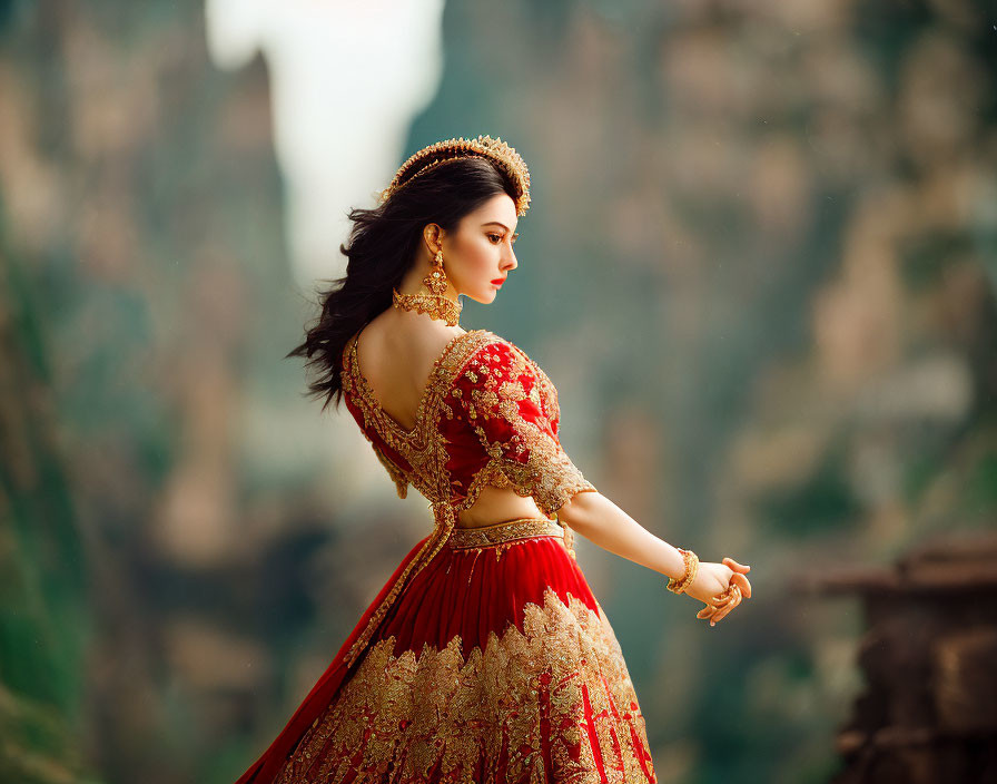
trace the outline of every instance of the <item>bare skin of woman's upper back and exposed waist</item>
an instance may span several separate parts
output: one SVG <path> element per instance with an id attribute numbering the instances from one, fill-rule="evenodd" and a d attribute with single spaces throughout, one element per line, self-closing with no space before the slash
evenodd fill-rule
<path id="1" fill-rule="evenodd" d="M 447 343 L 464 332 L 393 308 L 377 315 L 361 332 L 356 345 L 359 370 L 381 409 L 406 430 L 416 424 L 433 364 Z M 475 502 L 457 514 L 457 526 L 476 528 L 523 517 L 544 514 L 532 498 L 486 484 Z"/>

